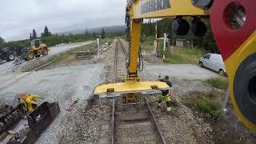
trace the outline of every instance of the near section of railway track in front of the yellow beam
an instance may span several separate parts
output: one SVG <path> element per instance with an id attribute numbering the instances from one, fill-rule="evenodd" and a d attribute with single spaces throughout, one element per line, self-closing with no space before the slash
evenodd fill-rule
<path id="1" fill-rule="evenodd" d="M 145 103 L 118 105 L 112 101 L 111 143 L 163 143 L 166 141 L 156 117 Z"/>

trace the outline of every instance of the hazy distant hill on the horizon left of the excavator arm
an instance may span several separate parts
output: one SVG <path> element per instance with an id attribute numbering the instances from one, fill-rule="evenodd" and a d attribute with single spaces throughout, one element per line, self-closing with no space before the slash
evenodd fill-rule
<path id="1" fill-rule="evenodd" d="M 103 26 L 106 33 L 118 33 L 124 32 L 126 30 L 126 26 Z M 97 28 L 90 28 L 87 29 L 89 33 L 101 33 L 102 27 Z M 78 30 L 69 30 L 58 34 L 83 34 L 85 33 L 85 29 L 78 29 Z"/>

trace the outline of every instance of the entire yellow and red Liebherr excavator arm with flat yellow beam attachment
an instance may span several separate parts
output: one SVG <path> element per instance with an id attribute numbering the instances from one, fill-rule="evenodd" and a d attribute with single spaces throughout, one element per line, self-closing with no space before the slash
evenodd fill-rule
<path id="1" fill-rule="evenodd" d="M 230 96 L 238 117 L 256 131 L 256 17 L 254 0 L 129 0 L 130 58 L 125 82 L 96 87 L 94 94 L 133 93 L 169 89 L 163 82 L 139 82 L 138 52 L 143 18 L 171 18 L 173 31 L 190 30 L 183 17 L 192 17 L 191 31 L 206 33 L 201 18 L 210 18 L 211 30 L 226 65 Z"/>

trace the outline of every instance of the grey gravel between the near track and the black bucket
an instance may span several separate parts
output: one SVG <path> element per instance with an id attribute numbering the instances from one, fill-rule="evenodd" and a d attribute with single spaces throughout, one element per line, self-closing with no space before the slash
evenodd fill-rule
<path id="1" fill-rule="evenodd" d="M 60 143 L 97 143 L 102 137 L 103 115 L 106 113 L 103 102 L 82 102 L 67 114 L 61 132 Z"/>

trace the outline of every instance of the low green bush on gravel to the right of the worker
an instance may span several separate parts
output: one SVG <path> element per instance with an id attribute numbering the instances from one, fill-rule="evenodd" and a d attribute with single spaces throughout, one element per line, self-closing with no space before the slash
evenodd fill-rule
<path id="1" fill-rule="evenodd" d="M 221 114 L 221 105 L 218 102 L 198 102 L 197 106 L 207 117 L 216 119 Z"/>

